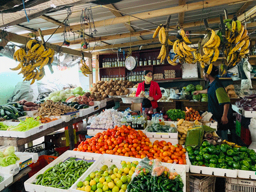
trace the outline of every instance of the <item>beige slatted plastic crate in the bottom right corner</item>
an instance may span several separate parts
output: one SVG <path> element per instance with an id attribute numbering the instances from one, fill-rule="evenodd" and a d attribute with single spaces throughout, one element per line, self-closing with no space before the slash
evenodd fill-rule
<path id="1" fill-rule="evenodd" d="M 245 179 L 226 179 L 226 192 L 255 192 L 256 181 Z"/>

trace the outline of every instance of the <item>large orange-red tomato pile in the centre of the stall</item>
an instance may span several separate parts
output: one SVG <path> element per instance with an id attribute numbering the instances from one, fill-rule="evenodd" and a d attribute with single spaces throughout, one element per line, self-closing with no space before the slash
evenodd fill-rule
<path id="1" fill-rule="evenodd" d="M 94 137 L 82 141 L 74 151 L 121 155 L 126 157 L 158 159 L 162 162 L 186 164 L 185 148 L 172 145 L 166 141 L 155 141 L 153 144 L 146 135 L 131 126 L 115 126 Z"/>

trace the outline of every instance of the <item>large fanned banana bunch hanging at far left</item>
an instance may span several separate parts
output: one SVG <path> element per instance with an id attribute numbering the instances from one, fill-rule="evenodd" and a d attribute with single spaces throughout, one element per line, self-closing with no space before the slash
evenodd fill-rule
<path id="1" fill-rule="evenodd" d="M 40 80 L 45 76 L 44 67 L 51 65 L 53 56 L 53 49 L 39 44 L 36 39 L 32 39 L 27 42 L 26 48 L 20 48 L 15 51 L 13 59 L 19 61 L 19 64 L 11 70 L 21 69 L 18 74 L 23 74 L 23 81 L 32 79 L 30 84 L 33 84 L 35 80 Z"/>

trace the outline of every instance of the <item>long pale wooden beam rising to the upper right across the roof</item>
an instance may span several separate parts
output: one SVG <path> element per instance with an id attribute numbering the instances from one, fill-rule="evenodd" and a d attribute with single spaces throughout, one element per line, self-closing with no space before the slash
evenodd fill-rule
<path id="1" fill-rule="evenodd" d="M 137 17 L 132 17 L 129 15 L 125 16 L 120 16 L 116 18 L 110 18 L 110 19 L 105 19 L 105 20 L 100 20 L 98 22 L 95 22 L 95 27 L 101 27 L 101 26 L 108 26 L 108 25 L 116 25 L 116 24 L 122 24 L 122 23 L 127 23 L 133 22 L 134 20 L 138 20 L 138 18 L 142 19 L 148 19 L 148 18 L 155 18 L 155 17 L 160 17 L 160 16 L 166 16 L 169 15 L 170 13 L 172 14 L 177 14 L 180 12 L 188 12 L 188 11 L 195 11 L 195 10 L 201 10 L 201 9 L 206 9 L 210 7 L 215 7 L 215 6 L 221 6 L 221 5 L 226 5 L 226 4 L 232 4 L 232 3 L 239 3 L 239 2 L 248 2 L 251 0 L 207 0 L 207 1 L 201 1 L 201 2 L 196 2 L 196 3 L 190 3 L 187 4 L 187 6 L 180 5 L 176 7 L 169 7 L 169 8 L 164 8 L 164 9 L 158 9 L 154 11 L 145 11 L 141 13 L 136 13 L 133 14 L 133 16 Z M 104 7 L 104 6 L 103 6 Z M 72 31 L 77 31 L 80 30 L 80 24 L 78 25 L 72 25 L 70 26 Z M 88 28 L 88 26 L 87 26 Z M 48 29 L 48 30 L 42 30 L 42 35 L 51 35 L 56 29 Z M 57 29 L 56 33 L 62 33 L 63 30 L 61 28 Z M 39 34 L 36 33 L 38 36 Z M 28 34 L 23 34 L 23 35 L 28 35 Z"/>

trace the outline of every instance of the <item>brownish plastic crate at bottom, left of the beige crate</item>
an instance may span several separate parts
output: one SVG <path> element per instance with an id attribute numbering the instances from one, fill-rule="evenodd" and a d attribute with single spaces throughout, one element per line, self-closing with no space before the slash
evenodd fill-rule
<path id="1" fill-rule="evenodd" d="M 190 192 L 214 192 L 216 177 L 193 177 L 189 176 Z"/>

